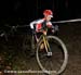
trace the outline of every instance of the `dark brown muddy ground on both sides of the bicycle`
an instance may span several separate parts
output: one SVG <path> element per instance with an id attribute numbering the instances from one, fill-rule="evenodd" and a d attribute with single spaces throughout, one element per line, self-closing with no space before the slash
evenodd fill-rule
<path id="1" fill-rule="evenodd" d="M 81 23 L 58 24 L 58 37 L 68 49 L 68 64 L 62 75 L 81 75 Z M 24 38 L 27 37 L 27 50 L 23 47 Z M 15 70 L 28 71 L 40 70 L 36 57 L 30 58 L 30 36 L 16 35 L 0 37 L 0 71 Z M 4 75 L 0 72 L 0 75 Z M 6 75 L 6 74 L 5 74 Z M 11 75 L 11 74 L 9 74 Z M 39 74 L 14 74 L 14 75 L 39 75 Z M 42 74 L 40 74 L 42 75 Z"/>

